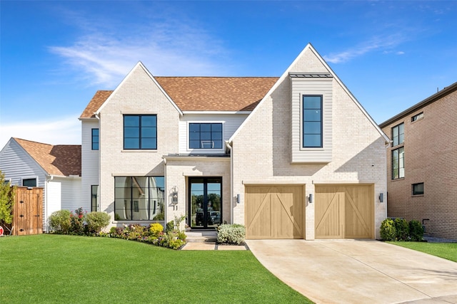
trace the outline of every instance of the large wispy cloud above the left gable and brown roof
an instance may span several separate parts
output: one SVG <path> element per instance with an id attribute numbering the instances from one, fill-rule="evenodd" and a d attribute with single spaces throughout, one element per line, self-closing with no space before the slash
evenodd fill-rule
<path id="1" fill-rule="evenodd" d="M 184 25 L 183 25 L 184 24 Z M 79 78 L 111 88 L 142 61 L 154 75 L 217 75 L 216 56 L 224 56 L 220 42 L 198 26 L 167 21 L 138 28 L 91 28 L 71 46 L 49 50 L 66 59 Z M 119 31 L 120 32 L 119 32 Z M 111 32 L 111 34 L 110 34 Z M 112 34 L 116 33 L 116 35 Z"/>

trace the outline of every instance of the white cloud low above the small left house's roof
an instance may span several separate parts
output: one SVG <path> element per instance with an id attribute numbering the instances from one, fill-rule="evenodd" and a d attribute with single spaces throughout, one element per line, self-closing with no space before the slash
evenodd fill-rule
<path id="1" fill-rule="evenodd" d="M 81 145 L 81 122 L 78 115 L 41 121 L 23 121 L 0 125 L 0 150 L 11 137 L 51 145 Z"/>

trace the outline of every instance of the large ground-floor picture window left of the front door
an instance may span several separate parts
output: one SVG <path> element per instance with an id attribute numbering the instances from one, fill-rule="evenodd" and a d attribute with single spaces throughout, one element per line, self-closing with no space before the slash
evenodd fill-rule
<path id="1" fill-rule="evenodd" d="M 164 177 L 114 177 L 116 221 L 161 221 L 165 219 Z"/>

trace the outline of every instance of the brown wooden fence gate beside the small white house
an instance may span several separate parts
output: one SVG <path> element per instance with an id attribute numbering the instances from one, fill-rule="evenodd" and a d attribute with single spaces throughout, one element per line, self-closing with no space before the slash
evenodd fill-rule
<path id="1" fill-rule="evenodd" d="M 16 187 L 13 235 L 43 233 L 43 188 Z"/>

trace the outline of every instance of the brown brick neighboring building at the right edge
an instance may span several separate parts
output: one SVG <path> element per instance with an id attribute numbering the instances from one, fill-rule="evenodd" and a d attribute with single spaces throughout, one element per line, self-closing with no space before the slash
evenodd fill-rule
<path id="1" fill-rule="evenodd" d="M 379 125 L 387 150 L 387 215 L 457 239 L 457 83 Z"/>

